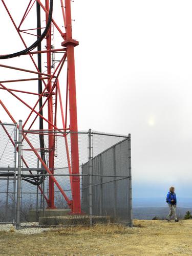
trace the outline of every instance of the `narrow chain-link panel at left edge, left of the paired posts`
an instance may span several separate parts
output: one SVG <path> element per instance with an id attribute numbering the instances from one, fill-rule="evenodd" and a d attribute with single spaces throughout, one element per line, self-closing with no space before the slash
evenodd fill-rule
<path id="1" fill-rule="evenodd" d="M 17 124 L 0 121 L 0 224 L 15 223 Z"/>

